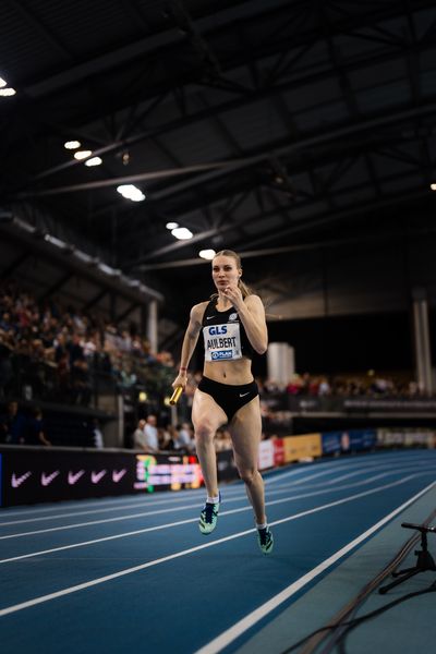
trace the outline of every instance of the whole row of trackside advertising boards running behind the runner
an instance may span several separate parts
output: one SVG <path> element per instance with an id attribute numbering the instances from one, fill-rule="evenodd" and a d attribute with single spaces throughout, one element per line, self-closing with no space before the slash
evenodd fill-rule
<path id="1" fill-rule="evenodd" d="M 267 470 L 326 456 L 376 448 L 436 446 L 436 429 L 349 429 L 261 441 L 258 468 Z M 238 477 L 231 450 L 217 453 L 218 477 Z M 193 455 L 144 455 L 122 449 L 0 446 L 0 507 L 92 497 L 198 488 Z"/>

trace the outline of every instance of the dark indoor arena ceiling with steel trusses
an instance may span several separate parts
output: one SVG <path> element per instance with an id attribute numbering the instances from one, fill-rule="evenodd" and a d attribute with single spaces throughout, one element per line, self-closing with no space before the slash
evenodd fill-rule
<path id="1" fill-rule="evenodd" d="M 3 0 L 0 76 L 3 235 L 183 302 L 204 249 L 280 286 L 293 252 L 434 230 L 434 0 Z"/>

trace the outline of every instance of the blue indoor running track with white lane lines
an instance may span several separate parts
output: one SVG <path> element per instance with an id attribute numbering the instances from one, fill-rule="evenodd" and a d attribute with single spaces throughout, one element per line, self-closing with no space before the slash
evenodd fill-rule
<path id="1" fill-rule="evenodd" d="M 264 479 L 268 557 L 241 483 L 221 488 L 210 536 L 197 528 L 203 489 L 1 510 L 2 654 L 237 652 L 431 493 L 436 452 L 323 460 Z"/>

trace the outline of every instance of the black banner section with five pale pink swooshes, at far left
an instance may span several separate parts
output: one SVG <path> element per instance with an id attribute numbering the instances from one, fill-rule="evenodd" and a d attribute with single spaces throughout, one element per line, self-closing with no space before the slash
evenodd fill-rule
<path id="1" fill-rule="evenodd" d="M 2 452 L 2 506 L 132 493 L 129 453 L 11 448 Z"/>

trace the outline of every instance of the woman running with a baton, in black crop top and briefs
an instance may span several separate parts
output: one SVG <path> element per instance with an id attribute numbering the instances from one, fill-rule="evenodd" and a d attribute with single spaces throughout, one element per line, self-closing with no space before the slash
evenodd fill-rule
<path id="1" fill-rule="evenodd" d="M 173 388 L 186 386 L 187 366 L 203 331 L 203 377 L 192 407 L 196 452 L 207 491 L 198 526 L 202 534 L 208 535 L 217 525 L 221 494 L 214 438 L 217 429 L 228 423 L 234 461 L 254 510 L 258 544 L 264 554 L 270 554 L 274 541 L 265 514 L 264 482 L 257 470 L 261 407 L 252 374 L 254 352 L 264 354 L 268 347 L 265 308 L 261 298 L 242 281 L 241 259 L 235 252 L 222 250 L 215 255 L 211 277 L 217 292 L 191 310 L 179 375 L 172 384 Z"/>

